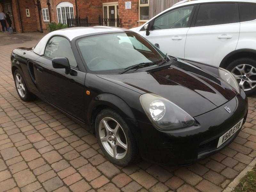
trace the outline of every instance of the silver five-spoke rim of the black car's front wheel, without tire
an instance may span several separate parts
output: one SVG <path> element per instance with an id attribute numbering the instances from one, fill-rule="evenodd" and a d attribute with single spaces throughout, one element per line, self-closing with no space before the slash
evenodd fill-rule
<path id="1" fill-rule="evenodd" d="M 104 117 L 99 124 L 100 141 L 110 156 L 123 159 L 127 153 L 127 138 L 121 125 L 111 117 Z"/>

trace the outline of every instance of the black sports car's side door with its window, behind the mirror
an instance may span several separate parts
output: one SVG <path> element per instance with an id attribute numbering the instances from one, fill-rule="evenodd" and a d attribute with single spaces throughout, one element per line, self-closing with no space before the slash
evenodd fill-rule
<path id="1" fill-rule="evenodd" d="M 71 70 L 52 67 L 52 59 L 66 57 Z M 53 36 L 45 47 L 44 55 L 36 60 L 36 83 L 41 94 L 51 104 L 84 121 L 85 72 L 79 70 L 68 39 Z"/>

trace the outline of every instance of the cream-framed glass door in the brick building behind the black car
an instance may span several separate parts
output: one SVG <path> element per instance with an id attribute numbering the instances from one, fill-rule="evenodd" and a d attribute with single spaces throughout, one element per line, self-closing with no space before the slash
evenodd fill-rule
<path id="1" fill-rule="evenodd" d="M 118 2 L 103 3 L 104 26 L 117 27 L 118 18 Z"/>

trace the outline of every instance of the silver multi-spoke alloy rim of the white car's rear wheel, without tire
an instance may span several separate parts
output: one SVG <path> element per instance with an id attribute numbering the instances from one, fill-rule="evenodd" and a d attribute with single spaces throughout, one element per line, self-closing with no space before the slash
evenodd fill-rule
<path id="1" fill-rule="evenodd" d="M 256 68 L 252 65 L 238 65 L 231 70 L 231 73 L 244 91 L 250 91 L 256 87 Z"/>

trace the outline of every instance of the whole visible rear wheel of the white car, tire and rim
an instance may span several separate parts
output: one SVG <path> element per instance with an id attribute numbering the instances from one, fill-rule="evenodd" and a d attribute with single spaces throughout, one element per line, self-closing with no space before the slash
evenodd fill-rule
<path id="1" fill-rule="evenodd" d="M 250 74 L 251 69 L 255 75 Z M 235 75 L 239 86 L 244 87 L 243 90 L 246 95 L 256 93 L 256 60 L 252 58 L 236 59 L 228 65 L 227 70 Z M 255 83 L 252 83 L 254 81 Z"/>

